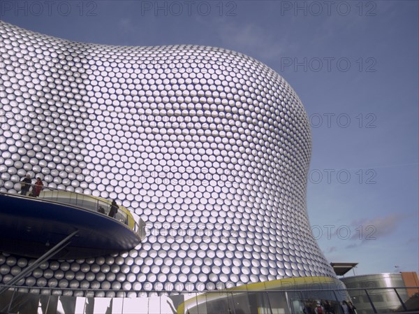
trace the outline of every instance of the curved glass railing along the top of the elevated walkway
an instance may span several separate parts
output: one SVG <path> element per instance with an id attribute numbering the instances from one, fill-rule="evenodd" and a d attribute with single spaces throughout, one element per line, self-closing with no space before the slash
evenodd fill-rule
<path id="1" fill-rule="evenodd" d="M 26 188 L 22 188 L 26 185 Z M 11 191 L 11 192 L 10 192 Z M 141 219 L 135 221 L 133 215 L 127 208 L 118 205 L 117 210 L 111 215 L 112 201 L 94 197 L 87 194 L 72 192 L 68 190 L 61 190 L 54 187 L 39 186 L 34 183 L 22 183 L 19 180 L 0 179 L 0 192 L 7 194 L 17 194 L 20 197 L 29 199 L 39 199 L 42 201 L 52 201 L 55 203 L 70 205 L 72 207 L 80 208 L 83 210 L 91 210 L 102 215 L 118 220 L 125 224 L 129 229 L 133 230 L 140 238 L 144 231 L 144 222 Z"/>

